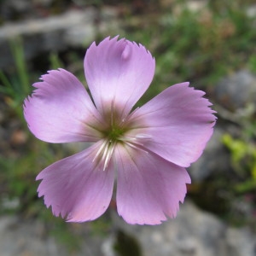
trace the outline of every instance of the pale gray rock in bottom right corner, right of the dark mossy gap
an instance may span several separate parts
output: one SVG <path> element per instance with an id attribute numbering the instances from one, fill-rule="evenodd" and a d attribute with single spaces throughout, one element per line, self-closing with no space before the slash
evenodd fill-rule
<path id="1" fill-rule="evenodd" d="M 247 228 L 227 226 L 207 212 L 185 201 L 177 218 L 157 226 L 132 226 L 115 216 L 116 229 L 139 241 L 147 256 L 255 256 L 256 236 Z M 109 243 L 113 237 L 109 238 Z M 114 253 L 108 254 L 112 256 Z"/>

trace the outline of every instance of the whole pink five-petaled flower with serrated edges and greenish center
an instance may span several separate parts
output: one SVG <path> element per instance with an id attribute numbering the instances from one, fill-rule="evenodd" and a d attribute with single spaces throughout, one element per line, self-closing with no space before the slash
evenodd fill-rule
<path id="1" fill-rule="evenodd" d="M 154 76 L 143 45 L 105 38 L 90 45 L 84 85 L 64 69 L 51 70 L 24 104 L 30 131 L 49 143 L 90 142 L 90 148 L 40 172 L 38 195 L 55 216 L 84 222 L 108 208 L 117 180 L 119 215 L 130 224 L 174 218 L 215 123 L 204 92 L 175 84 L 132 110 Z"/>

